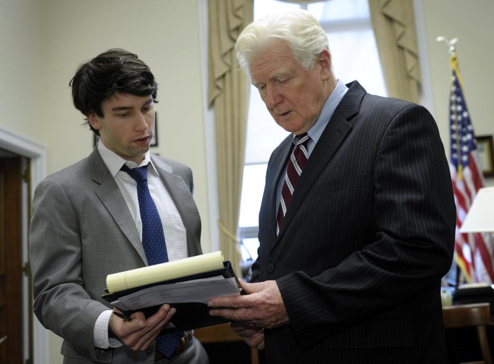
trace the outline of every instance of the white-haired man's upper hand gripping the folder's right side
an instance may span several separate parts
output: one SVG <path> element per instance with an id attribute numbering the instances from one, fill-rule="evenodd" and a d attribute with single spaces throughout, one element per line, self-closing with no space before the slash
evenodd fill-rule
<path id="1" fill-rule="evenodd" d="M 207 303 L 211 316 L 243 321 L 258 327 L 272 328 L 288 323 L 288 314 L 276 281 L 240 282 L 245 296 L 216 297 Z"/>

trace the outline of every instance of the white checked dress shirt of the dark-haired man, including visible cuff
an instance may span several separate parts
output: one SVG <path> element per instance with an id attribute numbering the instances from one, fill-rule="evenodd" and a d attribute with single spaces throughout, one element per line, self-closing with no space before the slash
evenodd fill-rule
<path id="1" fill-rule="evenodd" d="M 143 224 L 140 219 L 137 182 L 130 177 L 127 172 L 121 171 L 120 168 L 123 164 L 126 164 L 129 168 L 148 166 L 147 176 L 149 193 L 151 194 L 151 197 L 156 204 L 156 209 L 161 217 L 168 259 L 169 261 L 175 261 L 177 259 L 186 258 L 188 256 L 187 232 L 185 231 L 182 217 L 168 193 L 168 190 L 163 184 L 155 166 L 151 162 L 149 151 L 146 152 L 144 160 L 139 165 L 135 162 L 121 158 L 119 155 L 105 147 L 101 140 L 98 143 L 98 152 L 115 179 L 123 199 L 127 203 L 127 207 L 129 207 L 129 211 L 134 219 L 135 227 L 137 228 L 141 240 L 143 238 Z M 93 337 L 94 345 L 97 348 L 117 348 L 122 345 L 119 340 L 108 337 L 108 324 L 111 314 L 112 310 L 105 310 L 96 320 Z"/>

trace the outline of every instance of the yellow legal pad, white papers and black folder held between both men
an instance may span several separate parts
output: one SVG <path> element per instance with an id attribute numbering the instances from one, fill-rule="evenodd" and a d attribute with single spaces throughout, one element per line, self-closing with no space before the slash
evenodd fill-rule
<path id="1" fill-rule="evenodd" d="M 174 332 L 228 322 L 209 316 L 207 302 L 239 294 L 232 265 L 219 251 L 109 274 L 102 298 L 127 315 L 143 311 L 147 317 L 168 303 L 177 312 L 162 332 Z"/>

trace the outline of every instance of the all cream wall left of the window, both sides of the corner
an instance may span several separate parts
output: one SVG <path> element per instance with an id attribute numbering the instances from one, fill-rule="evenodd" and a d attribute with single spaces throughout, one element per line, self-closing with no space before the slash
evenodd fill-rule
<path id="1" fill-rule="evenodd" d="M 47 149 L 47 172 L 86 157 L 92 132 L 74 109 L 69 80 L 104 50 L 136 53 L 158 82 L 158 147 L 189 165 L 210 251 L 197 0 L 0 0 L 0 126 Z M 62 362 L 50 335 L 50 363 Z"/>

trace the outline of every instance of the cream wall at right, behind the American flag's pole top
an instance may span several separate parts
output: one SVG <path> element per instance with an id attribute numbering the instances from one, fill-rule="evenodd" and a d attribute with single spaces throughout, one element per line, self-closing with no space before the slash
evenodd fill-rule
<path id="1" fill-rule="evenodd" d="M 437 36 L 457 37 L 456 56 L 460 64 L 465 99 L 475 134 L 494 134 L 492 88 L 494 85 L 494 1 L 419 0 L 423 10 L 434 117 L 449 155 L 449 54 Z M 494 185 L 494 178 L 486 179 Z"/>

